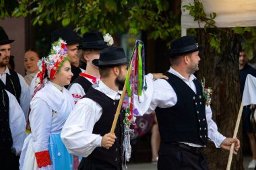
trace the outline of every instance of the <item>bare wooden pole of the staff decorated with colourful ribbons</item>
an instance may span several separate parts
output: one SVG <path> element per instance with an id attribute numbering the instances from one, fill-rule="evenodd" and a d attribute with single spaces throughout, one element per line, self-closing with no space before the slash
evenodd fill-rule
<path id="1" fill-rule="evenodd" d="M 131 63 L 130 63 L 130 66 L 129 66 L 129 70 L 127 72 L 128 72 L 127 76 L 130 77 L 130 75 L 131 75 Z M 118 104 L 118 107 L 117 107 L 117 112 L 115 114 L 115 118 L 114 118 L 111 130 L 110 130 L 110 134 L 114 134 L 115 128 L 117 126 L 117 119 L 118 119 L 119 114 L 120 114 L 120 110 L 121 110 L 121 107 L 122 107 L 122 104 L 123 104 L 123 99 L 125 98 L 125 92 L 126 92 L 126 81 L 125 81 L 125 85 L 123 86 L 122 95 L 121 95 L 120 100 L 119 100 L 119 104 Z"/>

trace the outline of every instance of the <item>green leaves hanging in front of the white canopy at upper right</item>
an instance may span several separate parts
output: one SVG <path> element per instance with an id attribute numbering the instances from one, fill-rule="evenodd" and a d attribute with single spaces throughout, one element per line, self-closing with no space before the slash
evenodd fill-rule
<path id="1" fill-rule="evenodd" d="M 228 34 L 237 34 L 243 38 L 242 47 L 247 52 L 248 58 L 253 58 L 253 50 L 256 50 L 256 28 L 252 27 L 236 27 L 226 31 L 223 28 L 217 28 L 214 24 L 216 13 L 210 13 L 210 16 L 205 14 L 203 4 L 199 0 L 194 0 L 194 3 L 184 5 L 183 8 L 189 10 L 189 14 L 194 17 L 195 21 L 205 22 L 204 34 L 207 34 L 207 38 L 210 42 L 210 46 L 214 48 L 218 53 L 224 50 L 225 46 L 228 46 Z M 216 28 L 214 31 L 209 28 Z M 223 34 L 224 33 L 224 34 Z"/>

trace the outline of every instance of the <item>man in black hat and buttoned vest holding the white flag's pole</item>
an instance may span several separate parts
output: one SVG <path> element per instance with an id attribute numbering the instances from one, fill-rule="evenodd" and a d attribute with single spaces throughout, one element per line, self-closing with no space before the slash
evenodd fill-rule
<path id="1" fill-rule="evenodd" d="M 203 87 L 193 75 L 199 69 L 200 49 L 192 36 L 172 41 L 168 53 L 171 67 L 165 73 L 169 79 L 154 81 L 152 97 L 145 97 L 151 101 L 148 112 L 155 110 L 158 120 L 160 170 L 209 169 L 201 154 L 208 138 L 226 150 L 234 143 L 234 154 L 240 147 L 237 138 L 226 138 L 218 132 Z"/>

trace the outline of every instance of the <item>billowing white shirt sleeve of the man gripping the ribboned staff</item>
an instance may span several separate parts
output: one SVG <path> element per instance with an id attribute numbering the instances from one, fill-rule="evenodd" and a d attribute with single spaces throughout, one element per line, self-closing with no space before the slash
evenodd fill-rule
<path id="1" fill-rule="evenodd" d="M 101 115 L 102 108 L 92 99 L 84 98 L 77 102 L 61 131 L 61 139 L 69 153 L 88 157 L 101 146 L 102 136 L 92 133 Z"/>

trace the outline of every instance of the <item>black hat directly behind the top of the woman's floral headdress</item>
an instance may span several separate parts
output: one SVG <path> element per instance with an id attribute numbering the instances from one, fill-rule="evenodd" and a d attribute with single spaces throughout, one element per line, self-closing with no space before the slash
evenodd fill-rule
<path id="1" fill-rule="evenodd" d="M 62 38 L 67 43 L 67 45 L 79 44 L 77 35 L 69 27 L 59 28 L 59 29 L 51 32 L 51 42 L 52 43 L 59 40 L 59 38 Z"/>

